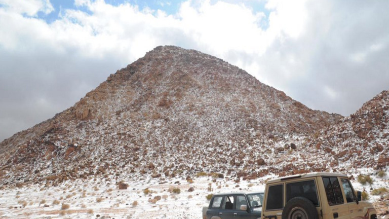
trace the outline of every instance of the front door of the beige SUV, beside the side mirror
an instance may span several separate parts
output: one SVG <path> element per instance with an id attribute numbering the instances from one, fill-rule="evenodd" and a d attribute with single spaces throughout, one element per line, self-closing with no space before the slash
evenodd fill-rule
<path id="1" fill-rule="evenodd" d="M 363 209 L 359 208 L 357 203 L 357 197 L 355 195 L 354 189 L 351 186 L 350 181 L 347 178 L 340 178 L 342 182 L 342 187 L 344 191 L 344 196 L 346 197 L 346 205 L 348 207 L 349 218 L 363 217 Z"/>

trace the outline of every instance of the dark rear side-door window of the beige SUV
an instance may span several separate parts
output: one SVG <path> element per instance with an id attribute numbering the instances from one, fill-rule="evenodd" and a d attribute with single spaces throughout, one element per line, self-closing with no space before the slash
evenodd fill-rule
<path id="1" fill-rule="evenodd" d="M 323 177 L 323 183 L 329 205 L 344 203 L 342 190 L 340 189 L 340 184 L 337 177 Z"/>

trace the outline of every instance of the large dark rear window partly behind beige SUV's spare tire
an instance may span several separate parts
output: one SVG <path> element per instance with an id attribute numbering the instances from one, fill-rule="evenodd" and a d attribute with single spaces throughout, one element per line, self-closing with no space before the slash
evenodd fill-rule
<path id="1" fill-rule="evenodd" d="M 295 197 L 304 197 L 319 206 L 315 180 L 292 182 L 286 185 L 286 202 Z"/>

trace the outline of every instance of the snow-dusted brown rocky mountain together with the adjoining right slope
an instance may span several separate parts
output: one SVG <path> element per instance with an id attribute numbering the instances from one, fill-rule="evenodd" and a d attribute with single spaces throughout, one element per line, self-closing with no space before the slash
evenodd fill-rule
<path id="1" fill-rule="evenodd" d="M 383 91 L 349 117 L 314 111 L 221 59 L 157 47 L 74 106 L 1 142 L 0 186 L 376 175 L 389 165 L 388 109 Z"/>

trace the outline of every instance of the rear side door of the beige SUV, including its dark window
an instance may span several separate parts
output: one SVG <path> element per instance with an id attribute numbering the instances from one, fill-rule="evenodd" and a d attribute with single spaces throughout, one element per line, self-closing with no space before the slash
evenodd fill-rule
<path id="1" fill-rule="evenodd" d="M 344 202 L 342 189 L 336 176 L 323 176 L 326 191 L 328 210 L 323 210 L 323 218 L 346 219 L 349 218 L 348 206 Z"/>

